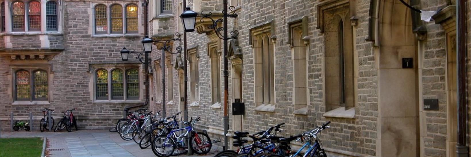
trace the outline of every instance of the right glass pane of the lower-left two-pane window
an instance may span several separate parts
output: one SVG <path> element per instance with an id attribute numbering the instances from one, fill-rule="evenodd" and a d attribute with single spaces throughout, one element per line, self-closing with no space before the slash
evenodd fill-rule
<path id="1" fill-rule="evenodd" d="M 33 73 L 34 99 L 48 99 L 48 72 L 43 70 Z"/>

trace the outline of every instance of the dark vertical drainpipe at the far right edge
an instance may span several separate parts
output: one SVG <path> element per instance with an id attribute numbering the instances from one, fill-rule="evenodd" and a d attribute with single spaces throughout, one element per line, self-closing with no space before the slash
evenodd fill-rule
<path id="1" fill-rule="evenodd" d="M 468 157 L 466 145 L 466 3 L 465 0 L 456 0 L 456 66 L 458 73 L 457 99 L 458 99 L 458 139 L 456 143 L 456 157 Z"/>

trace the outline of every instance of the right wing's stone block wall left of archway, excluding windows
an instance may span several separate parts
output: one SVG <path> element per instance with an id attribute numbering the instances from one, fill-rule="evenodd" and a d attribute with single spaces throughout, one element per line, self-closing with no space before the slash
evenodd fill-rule
<path id="1" fill-rule="evenodd" d="M 188 2 L 189 7 L 193 7 L 196 0 Z M 222 4 L 221 1 L 196 1 L 201 4 L 201 10 L 218 9 L 208 8 L 211 4 Z M 322 1 L 321 1 L 322 2 Z M 239 14 L 236 20 L 229 18 L 229 32 L 232 30 L 239 31 L 239 46 L 243 52 L 243 71 L 242 71 L 242 102 L 245 102 L 245 115 L 243 118 L 243 130 L 248 132 L 258 132 L 267 129 L 269 126 L 276 125 L 281 122 L 286 123 L 284 128 L 286 131 L 281 135 L 294 135 L 302 133 L 315 126 L 321 125 L 327 120 L 332 121 L 332 128 L 322 133 L 321 138 L 329 151 L 342 153 L 347 155 L 376 155 L 376 116 L 377 116 L 377 71 L 375 65 L 374 47 L 371 42 L 365 41 L 368 35 L 368 8 L 369 1 L 357 1 L 352 4 L 357 8 L 356 16 L 358 17 L 357 26 L 353 27 L 355 36 L 355 51 L 358 56 L 358 86 L 357 86 L 357 103 L 355 104 L 355 118 L 325 118 L 323 114 L 325 110 L 324 102 L 324 54 L 325 47 L 324 33 L 317 28 L 317 4 L 319 1 L 307 0 L 290 0 L 290 1 L 243 1 L 242 5 L 237 7 L 236 12 Z M 177 3 L 177 0 L 174 1 Z M 197 5 L 196 5 L 197 6 Z M 194 9 L 194 8 L 192 8 Z M 221 10 L 222 8 L 219 8 Z M 197 10 L 197 9 L 196 9 Z M 174 19 L 179 14 L 174 11 Z M 287 22 L 308 16 L 308 91 L 309 104 L 308 114 L 294 115 L 294 105 L 292 104 L 292 86 L 293 86 L 293 63 L 291 60 L 291 48 L 287 42 Z M 180 19 L 179 19 L 180 20 Z M 254 71 L 253 71 L 253 48 L 249 44 L 250 34 L 249 28 L 257 24 L 262 24 L 275 20 L 274 53 L 275 53 L 275 111 L 264 112 L 256 111 L 254 104 Z M 346 21 L 349 22 L 349 21 Z M 175 20 L 175 25 L 177 20 Z M 175 30 L 182 32 L 182 30 Z M 188 33 L 188 48 L 198 47 L 196 52 L 199 55 L 199 94 L 200 105 L 188 107 L 189 116 L 201 116 L 202 121 L 198 124 L 199 128 L 208 130 L 211 138 L 222 140 L 222 116 L 223 109 L 211 108 L 211 62 L 207 52 L 207 44 L 211 41 L 211 35 L 197 34 L 196 32 Z M 222 41 L 220 42 L 220 51 L 223 52 Z M 158 55 L 160 56 L 160 55 Z M 222 69 L 222 58 L 221 69 Z M 232 74 L 231 62 L 229 61 L 229 109 L 231 108 L 232 99 Z M 221 82 L 223 82 L 223 74 L 221 72 Z M 174 74 L 177 73 L 175 70 Z M 190 75 L 189 75 L 190 76 Z M 168 81 L 167 81 L 168 82 Z M 177 77 L 174 76 L 173 88 L 178 91 Z M 221 86 L 223 92 L 223 86 Z M 175 92 L 174 97 L 178 92 Z M 221 93 L 221 95 L 223 95 Z M 221 98 L 223 100 L 223 98 Z M 191 102 L 188 102 L 191 103 Z M 158 106 L 157 108 L 161 108 Z M 178 107 L 167 105 L 167 113 L 176 112 Z M 229 110 L 229 118 L 231 116 Z M 232 123 L 232 119 L 230 122 Z M 231 124 L 229 130 L 232 129 Z M 218 143 L 221 145 L 222 143 Z"/>

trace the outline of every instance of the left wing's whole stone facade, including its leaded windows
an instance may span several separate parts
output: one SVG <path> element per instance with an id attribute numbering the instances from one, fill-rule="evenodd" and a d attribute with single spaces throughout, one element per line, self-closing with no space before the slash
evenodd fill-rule
<path id="1" fill-rule="evenodd" d="M 77 108 L 79 128 L 105 129 L 122 118 L 123 108 L 145 102 L 143 66 L 123 62 L 119 53 L 142 49 L 141 3 L 2 1 L 1 128 L 9 128 L 10 114 L 25 120 L 32 112 L 38 130 L 42 108 L 56 110 L 56 122 L 62 111 Z"/>

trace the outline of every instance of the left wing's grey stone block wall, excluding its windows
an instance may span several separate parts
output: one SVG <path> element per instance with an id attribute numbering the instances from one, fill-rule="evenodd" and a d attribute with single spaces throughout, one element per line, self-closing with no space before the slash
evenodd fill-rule
<path id="1" fill-rule="evenodd" d="M 0 121 L 1 129 L 9 129 L 8 116 L 13 111 L 17 118 L 33 113 L 36 120 L 42 118 L 41 108 L 46 107 L 56 110 L 55 118 L 62 117 L 62 111 L 77 108 L 74 112 L 79 119 L 78 126 L 87 129 L 105 129 L 114 126 L 117 119 L 122 118 L 122 110 L 125 106 L 144 102 L 144 70 L 139 68 L 140 97 L 138 102 L 132 103 L 96 103 L 93 101 L 94 72 L 91 65 L 115 64 L 123 65 L 138 63 L 137 60 L 123 62 L 120 55 L 122 47 L 130 50 L 141 50 L 141 39 L 144 36 L 143 12 L 139 11 L 139 33 L 135 35 L 122 36 L 95 36 L 93 19 L 90 18 L 93 8 L 92 1 L 63 1 L 65 9 L 63 32 L 58 35 L 49 35 L 51 48 L 64 48 L 54 58 L 46 61 L 51 66 L 49 74 L 49 103 L 48 105 L 12 105 L 12 74 L 9 73 L 10 65 L 18 65 L 19 62 L 12 61 L 8 57 L 0 57 Z M 141 7 L 142 1 L 133 1 Z M 11 36 L 13 47 L 41 47 L 38 35 L 14 35 Z M 3 39 L 3 38 L 1 38 Z M 14 42 L 13 42 L 14 41 Z M 5 45 L 5 44 L 0 44 Z M 0 52 L 1 55 L 2 52 Z M 26 61 L 34 62 L 34 61 Z M 23 62 L 24 63 L 24 62 Z M 138 64 L 139 65 L 139 64 Z M 140 66 L 140 65 L 139 65 Z M 36 123 L 37 125 L 38 123 Z M 34 126 L 36 127 L 36 126 Z"/>

